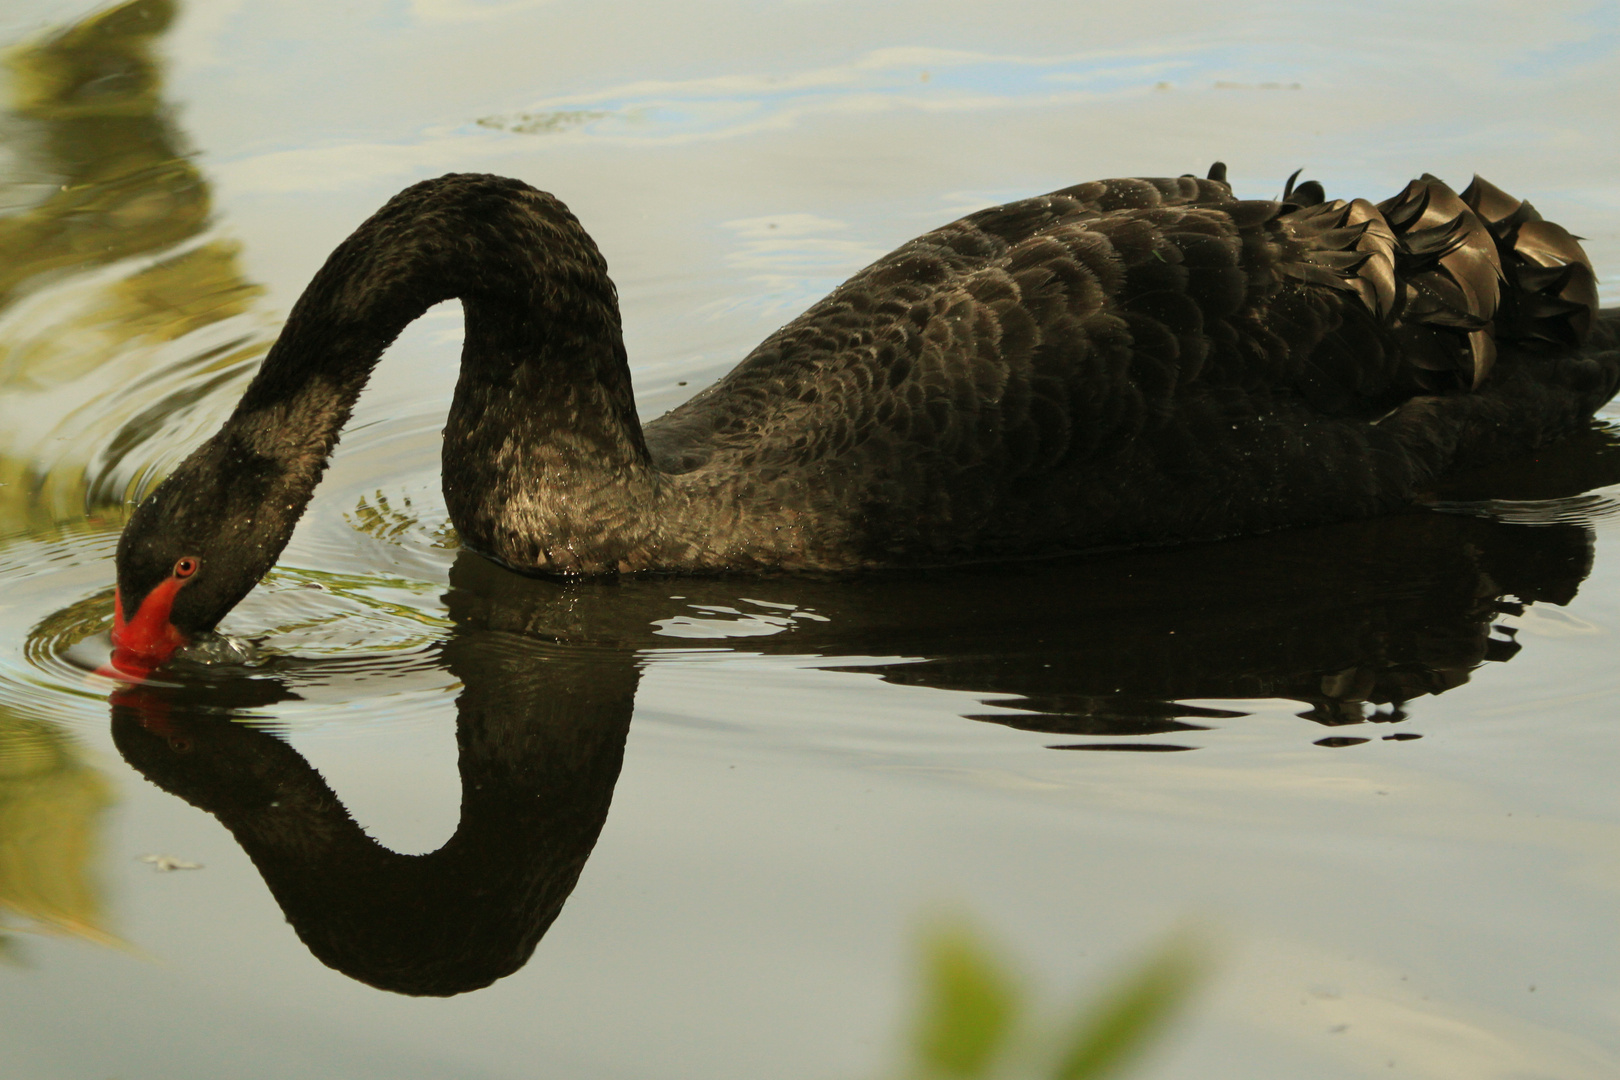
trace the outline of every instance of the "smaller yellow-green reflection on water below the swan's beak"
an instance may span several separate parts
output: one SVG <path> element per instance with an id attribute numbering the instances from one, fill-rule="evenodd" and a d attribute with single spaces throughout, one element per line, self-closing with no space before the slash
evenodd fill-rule
<path id="1" fill-rule="evenodd" d="M 110 803 L 66 733 L 0 712 L 0 960 L 21 962 L 18 929 L 118 944 L 94 874 Z"/>

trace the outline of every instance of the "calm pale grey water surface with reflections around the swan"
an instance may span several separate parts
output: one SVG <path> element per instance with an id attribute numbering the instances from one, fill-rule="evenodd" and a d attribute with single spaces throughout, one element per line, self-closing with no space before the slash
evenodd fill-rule
<path id="1" fill-rule="evenodd" d="M 932 225 L 1215 159 L 1249 194 L 1477 170 L 1615 303 L 1620 8 L 1524 11 L 8 0 L 6 1075 L 873 1077 L 941 908 L 1053 1002 L 1205 926 L 1145 1077 L 1620 1074 L 1605 423 L 1466 478 L 1466 513 L 562 588 L 457 555 L 447 306 L 227 622 L 262 662 L 89 675 L 126 499 L 413 180 L 573 207 L 643 416 Z"/>

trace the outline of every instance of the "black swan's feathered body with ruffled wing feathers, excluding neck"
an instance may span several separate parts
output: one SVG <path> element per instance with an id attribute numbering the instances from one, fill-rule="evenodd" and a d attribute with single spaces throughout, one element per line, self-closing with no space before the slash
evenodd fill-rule
<path id="1" fill-rule="evenodd" d="M 812 463 L 865 565 L 1252 531 L 1411 499 L 1458 444 L 1414 453 L 1396 445 L 1411 416 L 1380 418 L 1494 400 L 1498 342 L 1508 382 L 1536 379 L 1542 345 L 1575 350 L 1591 325 L 1580 246 L 1500 193 L 1482 217 L 1484 181 L 1464 199 L 1424 176 L 1375 206 L 1294 178 L 1239 201 L 1223 176 L 1077 185 L 935 230 L 648 424 L 648 444 L 706 502 L 792 505 Z M 1523 439 L 1617 379 L 1605 359 Z"/>

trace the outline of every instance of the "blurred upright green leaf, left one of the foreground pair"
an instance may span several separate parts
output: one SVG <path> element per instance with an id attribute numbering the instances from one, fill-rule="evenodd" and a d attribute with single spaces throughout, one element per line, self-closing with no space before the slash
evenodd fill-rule
<path id="1" fill-rule="evenodd" d="M 941 925 L 923 949 L 917 1070 L 925 1077 L 985 1077 L 1017 1020 L 1013 978 L 962 923 Z"/>

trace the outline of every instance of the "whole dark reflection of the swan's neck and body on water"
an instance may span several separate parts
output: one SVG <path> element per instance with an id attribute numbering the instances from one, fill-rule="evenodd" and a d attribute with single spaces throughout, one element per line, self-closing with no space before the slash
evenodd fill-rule
<path id="1" fill-rule="evenodd" d="M 1061 748 L 1191 748 L 1202 729 L 1241 724 L 1254 698 L 1290 698 L 1335 729 L 1393 730 L 1411 701 L 1513 657 L 1498 619 L 1567 604 L 1591 557 L 1583 525 L 1458 513 L 841 581 L 562 585 L 463 554 L 437 646 L 462 683 L 462 810 L 426 855 L 368 837 L 303 756 L 253 725 L 296 696 L 295 662 L 181 669 L 177 685 L 115 695 L 112 724 L 134 767 L 230 829 L 319 960 L 377 988 L 455 994 L 518 970 L 572 892 L 608 816 L 642 665 L 671 648 L 679 612 L 745 612 L 740 591 L 768 593 L 761 610 L 782 633 L 748 638 L 748 653 L 970 691 L 1003 706 L 970 719 Z M 1362 740 L 1328 740 L 1345 742 Z"/>

